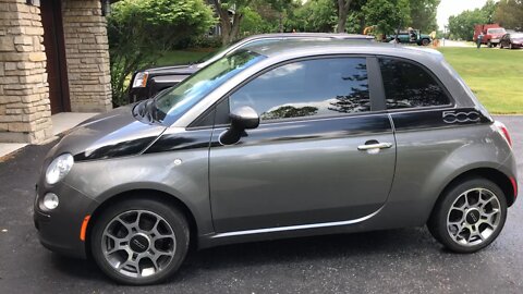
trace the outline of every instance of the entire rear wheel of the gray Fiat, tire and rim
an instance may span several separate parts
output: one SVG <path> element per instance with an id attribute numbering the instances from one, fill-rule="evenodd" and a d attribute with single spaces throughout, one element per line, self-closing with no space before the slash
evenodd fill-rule
<path id="1" fill-rule="evenodd" d="M 478 191 L 482 192 L 482 203 L 476 200 Z M 494 212 L 495 209 L 497 212 Z M 448 249 L 474 253 L 496 240 L 506 219 L 507 198 L 501 188 L 491 181 L 475 177 L 446 189 L 430 215 L 427 228 Z"/>

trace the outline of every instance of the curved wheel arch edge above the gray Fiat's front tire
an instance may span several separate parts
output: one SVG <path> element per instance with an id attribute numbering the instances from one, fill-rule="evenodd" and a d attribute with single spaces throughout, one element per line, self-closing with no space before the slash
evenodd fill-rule
<path id="1" fill-rule="evenodd" d="M 147 196 L 144 196 L 147 195 Z M 167 193 L 165 191 L 160 189 L 154 189 L 154 188 L 135 188 L 135 189 L 129 189 L 124 192 L 120 192 L 110 196 L 105 197 L 105 200 L 101 201 L 90 213 L 89 222 L 86 228 L 86 234 L 85 234 L 85 252 L 87 257 L 92 257 L 90 253 L 90 237 L 93 233 L 93 228 L 104 211 L 118 204 L 122 203 L 129 199 L 136 199 L 136 198 L 147 198 L 147 199 L 154 199 L 162 204 L 169 204 L 178 209 L 184 215 L 185 219 L 188 222 L 190 226 L 190 246 L 191 248 L 197 248 L 198 247 L 198 223 L 196 222 L 196 218 L 194 217 L 194 212 L 191 210 L 191 208 L 182 201 L 179 197 Z"/>

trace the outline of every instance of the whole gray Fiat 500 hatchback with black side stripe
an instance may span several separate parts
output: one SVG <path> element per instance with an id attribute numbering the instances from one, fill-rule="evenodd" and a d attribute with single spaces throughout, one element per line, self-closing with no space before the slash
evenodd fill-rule
<path id="1" fill-rule="evenodd" d="M 148 284 L 190 246 L 427 224 L 473 253 L 515 179 L 507 128 L 437 51 L 285 41 L 75 127 L 45 160 L 35 224 L 51 250 Z"/>

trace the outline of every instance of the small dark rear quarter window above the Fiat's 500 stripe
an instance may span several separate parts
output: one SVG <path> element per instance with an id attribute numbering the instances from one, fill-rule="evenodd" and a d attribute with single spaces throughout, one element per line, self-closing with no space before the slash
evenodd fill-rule
<path id="1" fill-rule="evenodd" d="M 380 58 L 387 109 L 434 107 L 450 103 L 447 93 L 422 66 L 399 59 Z"/>

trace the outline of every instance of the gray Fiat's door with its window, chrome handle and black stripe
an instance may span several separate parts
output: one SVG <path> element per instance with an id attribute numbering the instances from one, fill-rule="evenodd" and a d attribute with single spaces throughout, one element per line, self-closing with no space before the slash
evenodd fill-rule
<path id="1" fill-rule="evenodd" d="M 382 207 L 396 143 L 388 114 L 370 99 L 370 60 L 378 68 L 365 57 L 289 62 L 220 102 L 209 151 L 217 232 L 349 224 Z M 221 144 L 228 125 L 220 122 L 242 106 L 257 111 L 260 125 Z"/>

